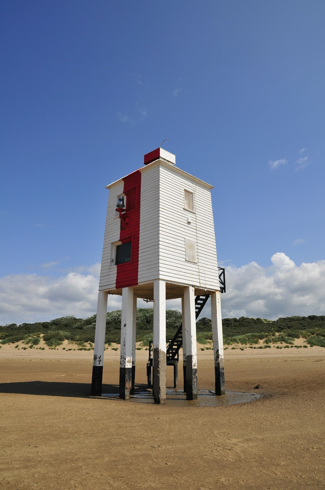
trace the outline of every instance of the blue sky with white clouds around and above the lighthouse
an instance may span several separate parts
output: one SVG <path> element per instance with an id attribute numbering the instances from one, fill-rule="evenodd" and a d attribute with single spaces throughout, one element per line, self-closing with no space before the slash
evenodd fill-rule
<path id="1" fill-rule="evenodd" d="M 2 0 L 0 18 L 0 323 L 95 311 L 105 185 L 164 138 L 215 186 L 224 315 L 325 314 L 323 1 Z"/>

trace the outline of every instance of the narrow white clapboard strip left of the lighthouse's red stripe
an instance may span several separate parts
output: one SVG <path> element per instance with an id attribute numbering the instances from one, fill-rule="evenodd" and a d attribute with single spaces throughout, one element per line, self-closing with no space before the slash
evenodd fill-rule
<path id="1" fill-rule="evenodd" d="M 100 268 L 99 291 L 115 289 L 116 266 L 111 263 L 111 245 L 118 242 L 120 220 L 116 218 L 116 197 L 123 193 L 124 182 L 117 181 L 110 186 L 108 196 L 103 255 Z"/>

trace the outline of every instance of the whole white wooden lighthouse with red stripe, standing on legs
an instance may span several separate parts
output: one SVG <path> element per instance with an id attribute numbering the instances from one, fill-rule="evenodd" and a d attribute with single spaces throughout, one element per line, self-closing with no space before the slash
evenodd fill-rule
<path id="1" fill-rule="evenodd" d="M 107 186 L 92 394 L 101 395 L 108 294 L 122 295 L 119 396 L 134 391 L 137 298 L 154 301 L 153 396 L 166 398 L 166 299 L 182 298 L 186 398 L 197 397 L 195 296 L 210 295 L 215 392 L 224 394 L 220 285 L 210 191 L 163 148 Z"/>

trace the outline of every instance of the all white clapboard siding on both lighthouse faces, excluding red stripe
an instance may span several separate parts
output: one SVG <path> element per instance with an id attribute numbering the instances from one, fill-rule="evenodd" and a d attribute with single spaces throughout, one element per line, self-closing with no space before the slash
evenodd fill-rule
<path id="1" fill-rule="evenodd" d="M 138 284 L 162 279 L 207 290 L 218 289 L 211 186 L 162 160 L 143 167 L 140 172 Z M 120 221 L 115 209 L 116 196 L 123 192 L 123 181 L 108 187 L 100 291 L 115 289 L 116 266 L 111 263 L 111 247 L 119 240 Z M 192 250 L 191 261 L 186 260 L 186 241 L 188 250 Z"/>

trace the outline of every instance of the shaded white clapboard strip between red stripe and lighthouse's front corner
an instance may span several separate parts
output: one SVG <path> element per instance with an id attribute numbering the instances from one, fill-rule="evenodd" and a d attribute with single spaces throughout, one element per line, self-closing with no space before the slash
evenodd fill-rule
<path id="1" fill-rule="evenodd" d="M 141 175 L 139 284 L 159 279 L 159 167 Z"/>

